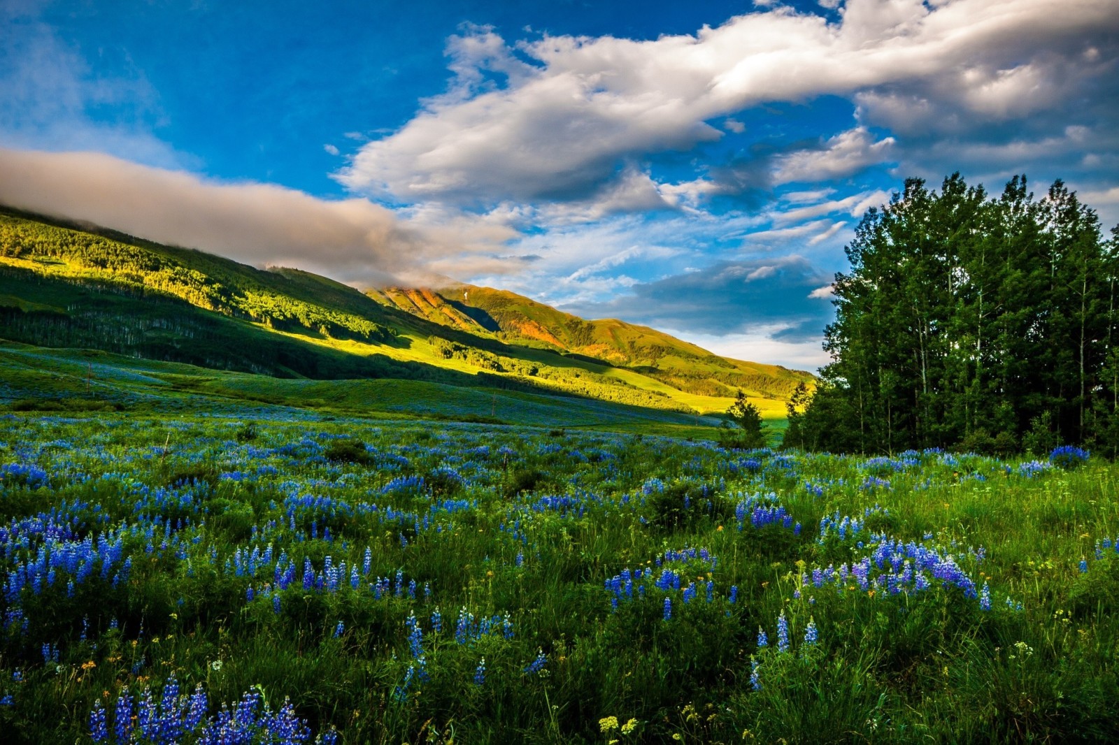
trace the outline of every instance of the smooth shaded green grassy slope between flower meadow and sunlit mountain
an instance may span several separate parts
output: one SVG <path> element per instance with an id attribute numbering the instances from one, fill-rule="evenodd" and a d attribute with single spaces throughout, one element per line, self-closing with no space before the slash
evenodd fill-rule
<path id="1" fill-rule="evenodd" d="M 612 404 L 406 379 L 310 380 L 210 370 L 90 350 L 43 349 L 0 342 L 0 396 L 13 402 L 98 400 L 138 412 L 196 405 L 238 411 L 244 405 L 283 415 L 486 421 L 712 438 L 717 419 Z"/>

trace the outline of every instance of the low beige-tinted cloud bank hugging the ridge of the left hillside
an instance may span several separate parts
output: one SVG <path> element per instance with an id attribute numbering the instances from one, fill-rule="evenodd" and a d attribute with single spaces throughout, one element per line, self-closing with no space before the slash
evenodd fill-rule
<path id="1" fill-rule="evenodd" d="M 0 149 L 0 202 L 354 283 L 422 281 L 451 256 L 470 258 L 462 242 L 366 199 L 326 201 L 271 185 L 214 183 L 101 153 Z"/>

